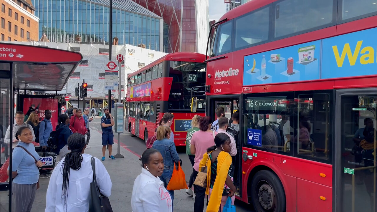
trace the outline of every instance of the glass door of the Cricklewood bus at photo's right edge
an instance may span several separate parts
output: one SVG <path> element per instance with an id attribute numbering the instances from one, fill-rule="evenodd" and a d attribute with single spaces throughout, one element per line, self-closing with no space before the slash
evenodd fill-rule
<path id="1" fill-rule="evenodd" d="M 336 211 L 375 212 L 377 89 L 336 94 Z"/>

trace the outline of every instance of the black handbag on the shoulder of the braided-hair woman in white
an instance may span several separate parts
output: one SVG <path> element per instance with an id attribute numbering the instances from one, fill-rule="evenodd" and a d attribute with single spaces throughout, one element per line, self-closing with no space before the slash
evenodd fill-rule
<path id="1" fill-rule="evenodd" d="M 90 200 L 89 211 L 90 212 L 113 212 L 111 208 L 109 197 L 105 197 L 98 189 L 97 178 L 95 176 L 95 161 L 91 158 L 93 169 L 93 181 L 90 183 Z"/>

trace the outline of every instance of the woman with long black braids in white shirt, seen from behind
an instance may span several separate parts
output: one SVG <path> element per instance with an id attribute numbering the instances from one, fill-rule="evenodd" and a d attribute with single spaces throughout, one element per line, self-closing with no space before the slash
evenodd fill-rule
<path id="1" fill-rule="evenodd" d="M 74 133 L 67 143 L 70 152 L 52 172 L 45 212 L 89 211 L 90 183 L 93 181 L 92 155 L 84 154 L 84 135 Z M 100 192 L 109 197 L 112 187 L 110 175 L 98 158 L 95 158 L 95 174 Z"/>

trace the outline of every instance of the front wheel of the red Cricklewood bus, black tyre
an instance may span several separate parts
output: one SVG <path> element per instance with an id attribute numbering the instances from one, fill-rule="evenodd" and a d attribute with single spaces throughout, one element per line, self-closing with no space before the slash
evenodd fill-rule
<path id="1" fill-rule="evenodd" d="M 284 212 L 285 194 L 279 178 L 271 171 L 257 172 L 251 184 L 251 200 L 257 212 Z"/>

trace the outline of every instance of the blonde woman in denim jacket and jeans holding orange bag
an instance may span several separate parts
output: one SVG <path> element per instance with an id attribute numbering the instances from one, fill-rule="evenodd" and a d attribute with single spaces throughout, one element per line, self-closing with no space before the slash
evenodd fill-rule
<path id="1" fill-rule="evenodd" d="M 172 178 L 174 163 L 179 163 L 179 155 L 175 148 L 175 143 L 169 140 L 172 130 L 168 126 L 159 126 L 157 128 L 157 140 L 153 143 L 153 149 L 157 149 L 162 158 L 164 158 L 164 172 L 159 178 L 164 182 L 164 187 L 169 184 L 170 178 Z M 174 191 L 168 190 L 172 201 L 174 200 Z"/>

